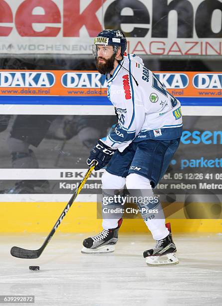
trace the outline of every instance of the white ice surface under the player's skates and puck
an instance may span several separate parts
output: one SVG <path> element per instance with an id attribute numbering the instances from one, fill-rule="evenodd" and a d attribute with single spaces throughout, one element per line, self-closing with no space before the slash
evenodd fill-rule
<path id="1" fill-rule="evenodd" d="M 180 263 L 148 266 L 150 234 L 120 232 L 116 251 L 82 254 L 90 234 L 56 233 L 38 259 L 10 255 L 39 248 L 45 235 L 0 236 L 0 294 L 35 295 L 33 305 L 222 305 L 222 236 L 177 234 Z M 39 265 L 39 271 L 29 271 Z"/>

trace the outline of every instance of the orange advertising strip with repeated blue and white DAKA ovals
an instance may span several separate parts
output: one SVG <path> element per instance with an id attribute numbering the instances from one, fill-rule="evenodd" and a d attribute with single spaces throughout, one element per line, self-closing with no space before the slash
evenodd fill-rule
<path id="1" fill-rule="evenodd" d="M 222 97 L 222 72 L 156 71 L 155 74 L 174 96 Z M 105 75 L 96 71 L 0 70 L 0 95 L 2 98 L 5 95 L 107 96 L 107 82 Z"/>

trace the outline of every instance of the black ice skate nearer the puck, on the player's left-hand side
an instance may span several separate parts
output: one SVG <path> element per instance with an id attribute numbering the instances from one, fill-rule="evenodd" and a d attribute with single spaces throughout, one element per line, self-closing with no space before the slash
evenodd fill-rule
<path id="1" fill-rule="evenodd" d="M 103 229 L 95 236 L 83 241 L 82 253 L 107 253 L 115 250 L 114 244 L 118 241 L 118 231 L 123 219 L 120 218 L 116 228 Z"/>

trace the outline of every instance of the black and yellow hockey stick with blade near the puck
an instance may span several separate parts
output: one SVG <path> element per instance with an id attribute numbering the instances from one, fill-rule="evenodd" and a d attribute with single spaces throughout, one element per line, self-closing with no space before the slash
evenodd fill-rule
<path id="1" fill-rule="evenodd" d="M 41 253 L 43 252 L 44 248 L 48 244 L 48 242 L 51 240 L 53 234 L 55 233 L 56 229 L 58 228 L 59 224 L 61 223 L 62 219 L 68 212 L 69 208 L 71 207 L 72 203 L 76 199 L 77 195 L 81 191 L 83 185 L 85 184 L 86 180 L 89 178 L 90 174 L 92 173 L 93 169 L 95 168 L 95 163 L 88 169 L 88 171 L 85 173 L 85 176 L 79 183 L 78 187 L 76 188 L 75 192 L 73 193 L 72 197 L 68 201 L 68 204 L 63 209 L 62 213 L 60 214 L 58 220 L 56 221 L 55 225 L 53 226 L 52 230 L 48 234 L 47 238 L 45 239 L 44 243 L 39 249 L 25 249 L 18 246 L 13 246 L 11 248 L 11 255 L 18 258 L 38 258 Z"/>

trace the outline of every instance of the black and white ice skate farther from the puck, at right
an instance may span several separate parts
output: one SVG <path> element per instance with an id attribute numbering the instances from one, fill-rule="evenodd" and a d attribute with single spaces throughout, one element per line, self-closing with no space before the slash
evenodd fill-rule
<path id="1" fill-rule="evenodd" d="M 174 244 L 170 223 L 166 224 L 170 233 L 164 239 L 157 240 L 154 248 L 148 249 L 143 252 L 144 258 L 149 265 L 160 264 L 176 264 L 179 263 L 179 259 L 176 256 L 176 245 Z"/>

